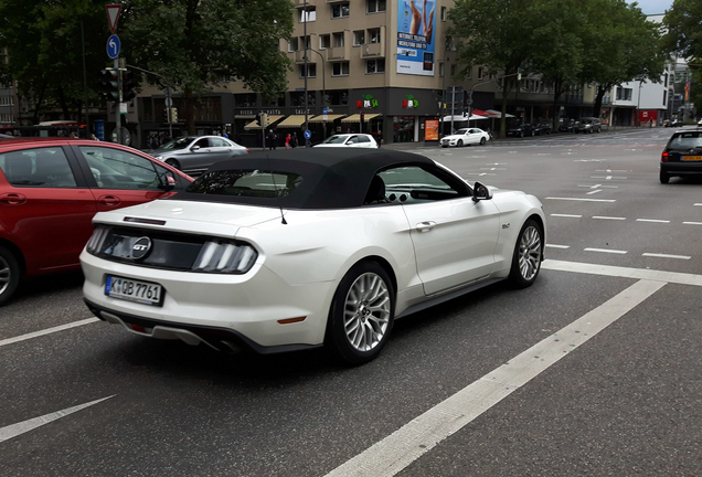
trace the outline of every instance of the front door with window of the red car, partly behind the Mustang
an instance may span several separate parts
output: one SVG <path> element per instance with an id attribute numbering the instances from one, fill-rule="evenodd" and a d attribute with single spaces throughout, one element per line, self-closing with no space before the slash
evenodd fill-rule
<path id="1" fill-rule="evenodd" d="M 87 182 L 97 201 L 98 211 L 167 198 L 182 189 L 179 178 L 145 156 L 99 145 L 73 146 L 73 150 L 78 160 L 83 161 L 83 169 L 89 171 Z M 176 188 L 164 191 L 161 184 L 169 180 L 169 176 Z"/>

